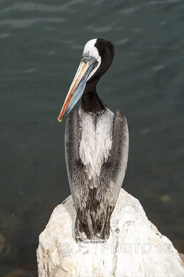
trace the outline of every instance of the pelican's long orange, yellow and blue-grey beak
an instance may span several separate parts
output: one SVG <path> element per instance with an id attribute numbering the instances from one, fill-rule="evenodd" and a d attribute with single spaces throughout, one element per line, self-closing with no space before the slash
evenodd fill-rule
<path id="1" fill-rule="evenodd" d="M 61 112 L 58 116 L 58 121 L 61 122 L 62 118 L 73 108 L 76 102 L 81 97 L 84 89 L 87 77 L 94 68 L 94 63 L 89 66 L 89 61 L 86 63 L 81 61 L 70 86 L 66 99 L 64 101 Z"/>

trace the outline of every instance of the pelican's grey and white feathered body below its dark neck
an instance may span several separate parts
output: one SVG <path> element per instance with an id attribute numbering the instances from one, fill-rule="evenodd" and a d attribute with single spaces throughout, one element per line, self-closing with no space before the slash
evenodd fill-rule
<path id="1" fill-rule="evenodd" d="M 75 209 L 76 239 L 106 240 L 125 176 L 128 125 L 122 111 L 72 110 L 66 122 L 65 156 Z"/>

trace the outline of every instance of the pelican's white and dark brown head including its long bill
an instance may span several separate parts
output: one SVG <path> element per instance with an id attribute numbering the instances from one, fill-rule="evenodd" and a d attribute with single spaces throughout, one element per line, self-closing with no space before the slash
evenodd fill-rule
<path id="1" fill-rule="evenodd" d="M 89 40 L 82 53 L 81 62 L 64 101 L 58 121 L 74 107 L 82 96 L 87 82 L 99 80 L 108 70 L 114 57 L 114 46 L 102 38 Z"/>

